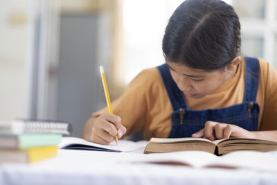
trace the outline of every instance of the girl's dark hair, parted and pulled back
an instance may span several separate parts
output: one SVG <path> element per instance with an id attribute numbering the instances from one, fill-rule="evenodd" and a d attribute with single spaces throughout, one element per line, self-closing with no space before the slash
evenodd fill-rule
<path id="1" fill-rule="evenodd" d="M 218 0 L 186 0 L 170 17 L 163 36 L 167 61 L 219 70 L 240 55 L 240 21 Z"/>

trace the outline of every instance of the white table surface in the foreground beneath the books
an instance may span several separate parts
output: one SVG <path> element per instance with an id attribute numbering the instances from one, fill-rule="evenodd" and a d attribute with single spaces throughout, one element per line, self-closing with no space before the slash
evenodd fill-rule
<path id="1" fill-rule="evenodd" d="M 116 162 L 126 155 L 59 150 L 36 164 L 1 164 L 0 184 L 277 184 L 271 172 Z"/>

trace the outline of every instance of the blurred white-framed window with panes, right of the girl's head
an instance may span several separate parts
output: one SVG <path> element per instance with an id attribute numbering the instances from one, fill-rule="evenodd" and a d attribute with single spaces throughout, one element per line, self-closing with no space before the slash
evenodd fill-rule
<path id="1" fill-rule="evenodd" d="M 233 0 L 242 28 L 242 55 L 264 58 L 277 69 L 277 1 Z"/>

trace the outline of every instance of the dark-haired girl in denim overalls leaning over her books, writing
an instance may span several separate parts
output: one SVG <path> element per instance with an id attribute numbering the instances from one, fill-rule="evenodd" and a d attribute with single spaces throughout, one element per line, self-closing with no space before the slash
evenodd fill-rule
<path id="1" fill-rule="evenodd" d="M 240 21 L 218 0 L 187 0 L 163 36 L 166 64 L 146 69 L 84 125 L 84 139 L 109 144 L 143 131 L 154 137 L 277 140 L 277 73 L 240 56 Z M 122 122 L 121 122 L 122 121 Z M 269 131 L 265 131 L 269 130 Z"/>

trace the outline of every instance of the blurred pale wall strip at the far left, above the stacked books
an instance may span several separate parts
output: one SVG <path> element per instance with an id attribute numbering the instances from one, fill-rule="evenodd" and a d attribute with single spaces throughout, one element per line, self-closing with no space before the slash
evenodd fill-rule
<path id="1" fill-rule="evenodd" d="M 0 6 L 0 120 L 27 115 L 28 1 L 10 0 Z"/>

